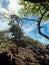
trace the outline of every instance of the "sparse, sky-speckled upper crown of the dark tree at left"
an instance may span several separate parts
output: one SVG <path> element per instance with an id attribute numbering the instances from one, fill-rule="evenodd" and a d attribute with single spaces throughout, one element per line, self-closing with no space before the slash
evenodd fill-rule
<path id="1" fill-rule="evenodd" d="M 16 14 L 10 15 L 9 19 L 10 19 L 9 20 L 9 22 L 10 22 L 9 25 L 13 24 L 13 23 L 15 23 L 19 26 L 22 25 L 22 19 L 20 19 L 19 16 L 17 16 Z"/>

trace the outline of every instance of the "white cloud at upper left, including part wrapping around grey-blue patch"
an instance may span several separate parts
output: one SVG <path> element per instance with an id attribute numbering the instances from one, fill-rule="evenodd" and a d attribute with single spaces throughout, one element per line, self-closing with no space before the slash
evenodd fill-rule
<path id="1" fill-rule="evenodd" d="M 5 12 L 5 13 L 9 12 L 10 14 L 18 14 L 18 10 L 20 10 L 23 7 L 22 5 L 19 4 L 19 0 L 6 0 L 6 2 L 8 2 L 8 1 L 9 1 L 9 4 L 7 6 L 8 11 L 7 11 L 7 9 L 2 7 L 3 3 L 1 3 L 1 2 L 0 2 L 1 3 L 0 11 Z"/>

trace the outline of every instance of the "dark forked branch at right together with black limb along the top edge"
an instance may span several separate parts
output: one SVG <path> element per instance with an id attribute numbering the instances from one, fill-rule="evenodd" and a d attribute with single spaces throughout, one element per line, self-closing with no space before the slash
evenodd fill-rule
<path id="1" fill-rule="evenodd" d="M 24 0 L 24 1 L 30 1 L 30 2 L 32 2 L 32 3 L 41 3 L 41 2 L 44 2 L 44 3 L 45 3 L 45 2 L 48 1 L 48 0 Z M 39 21 L 37 21 L 37 20 L 32 20 L 32 19 L 27 19 L 27 20 L 36 21 L 36 22 L 38 23 L 38 32 L 39 32 L 39 34 L 42 35 L 43 37 L 49 39 L 49 37 L 48 37 L 47 35 L 45 35 L 44 33 L 41 32 L 41 25 L 40 25 L 43 16 L 44 16 L 44 15 L 47 13 L 47 11 L 49 11 L 49 10 L 48 10 L 48 8 L 46 7 L 46 5 L 44 5 L 44 4 L 42 4 L 42 3 L 41 3 L 41 5 L 44 6 L 44 8 L 45 8 L 46 10 L 45 10 L 44 13 L 42 14 L 40 20 L 39 20 Z M 25 19 L 26 19 L 26 18 L 25 18 Z"/>

